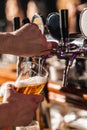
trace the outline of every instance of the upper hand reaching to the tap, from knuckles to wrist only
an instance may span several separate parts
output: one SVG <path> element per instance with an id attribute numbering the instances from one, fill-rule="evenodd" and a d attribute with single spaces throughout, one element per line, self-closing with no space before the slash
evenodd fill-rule
<path id="1" fill-rule="evenodd" d="M 36 24 L 26 24 L 19 30 L 13 32 L 13 34 L 15 37 L 10 52 L 12 51 L 16 55 L 47 55 L 50 54 L 50 49 L 52 49 L 54 44 L 47 42 Z"/>

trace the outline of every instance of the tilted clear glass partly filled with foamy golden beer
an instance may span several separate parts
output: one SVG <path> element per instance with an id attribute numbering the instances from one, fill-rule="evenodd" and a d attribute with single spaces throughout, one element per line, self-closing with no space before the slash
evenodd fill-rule
<path id="1" fill-rule="evenodd" d="M 15 82 L 15 90 L 23 94 L 39 94 L 47 78 L 48 72 L 41 64 L 26 62 Z"/>

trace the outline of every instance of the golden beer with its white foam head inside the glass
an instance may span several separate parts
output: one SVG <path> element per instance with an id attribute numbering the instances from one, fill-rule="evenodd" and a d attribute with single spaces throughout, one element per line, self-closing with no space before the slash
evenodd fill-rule
<path id="1" fill-rule="evenodd" d="M 46 78 L 41 76 L 30 77 L 18 81 L 15 84 L 15 90 L 23 94 L 39 94 L 46 84 Z"/>

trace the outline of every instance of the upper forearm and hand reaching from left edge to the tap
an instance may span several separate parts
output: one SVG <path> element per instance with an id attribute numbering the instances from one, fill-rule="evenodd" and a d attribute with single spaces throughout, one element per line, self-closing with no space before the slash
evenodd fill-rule
<path id="1" fill-rule="evenodd" d="M 0 33 L 0 53 L 19 56 L 49 54 L 52 44 L 46 41 L 35 24 L 26 24 L 14 32 Z M 44 53 L 42 53 L 44 52 Z"/>

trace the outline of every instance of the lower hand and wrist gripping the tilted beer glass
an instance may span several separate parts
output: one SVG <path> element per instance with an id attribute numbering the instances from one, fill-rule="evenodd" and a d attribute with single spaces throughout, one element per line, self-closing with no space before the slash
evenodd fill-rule
<path id="1" fill-rule="evenodd" d="M 24 95 L 15 92 L 14 86 L 6 86 L 3 103 L 0 104 L 0 129 L 28 125 L 42 100 L 42 95 Z"/>

